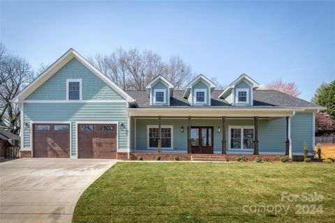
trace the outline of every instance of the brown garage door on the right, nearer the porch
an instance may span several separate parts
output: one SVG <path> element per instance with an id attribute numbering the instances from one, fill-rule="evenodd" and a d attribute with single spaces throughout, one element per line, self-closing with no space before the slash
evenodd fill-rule
<path id="1" fill-rule="evenodd" d="M 78 125 L 79 158 L 117 158 L 116 124 Z"/>

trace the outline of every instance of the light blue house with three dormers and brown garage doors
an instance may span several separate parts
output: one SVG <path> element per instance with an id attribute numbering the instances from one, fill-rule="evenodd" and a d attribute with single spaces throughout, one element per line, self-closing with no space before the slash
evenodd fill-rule
<path id="1" fill-rule="evenodd" d="M 176 90 L 158 76 L 146 91 L 123 91 L 70 49 L 13 100 L 22 111 L 21 157 L 278 159 L 302 155 L 304 144 L 313 151 L 323 107 L 258 90 L 245 74 L 215 87 L 198 75 Z"/>

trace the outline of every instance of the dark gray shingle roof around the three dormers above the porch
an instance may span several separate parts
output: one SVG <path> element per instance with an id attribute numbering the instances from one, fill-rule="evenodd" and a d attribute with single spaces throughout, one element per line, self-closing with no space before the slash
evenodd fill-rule
<path id="1" fill-rule="evenodd" d="M 128 95 L 136 100 L 138 107 L 153 107 L 150 106 L 149 95 L 146 91 L 126 91 Z M 218 95 L 222 90 L 214 90 L 211 93 L 211 107 L 225 108 L 246 108 L 244 106 L 232 106 Z M 191 107 L 186 98 L 183 98 L 184 90 L 174 90 L 173 97 L 170 99 L 170 107 Z M 155 106 L 156 107 L 156 106 Z M 275 90 L 255 90 L 253 91 L 253 107 L 256 108 L 321 108 L 306 100 L 295 98 L 286 93 Z M 247 107 L 251 108 L 251 107 Z"/>

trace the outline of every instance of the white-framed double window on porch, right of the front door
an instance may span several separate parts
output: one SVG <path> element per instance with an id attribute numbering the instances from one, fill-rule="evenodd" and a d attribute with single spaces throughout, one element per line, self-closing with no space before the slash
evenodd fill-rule
<path id="1" fill-rule="evenodd" d="M 232 149 L 253 149 L 253 128 L 252 127 L 231 127 L 230 148 Z"/>

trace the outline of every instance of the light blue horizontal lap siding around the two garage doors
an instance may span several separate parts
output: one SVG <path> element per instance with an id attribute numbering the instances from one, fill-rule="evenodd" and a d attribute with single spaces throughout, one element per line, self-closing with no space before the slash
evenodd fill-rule
<path id="1" fill-rule="evenodd" d="M 24 103 L 24 123 L 43 121 L 71 121 L 72 123 L 72 155 L 76 153 L 75 121 L 119 122 L 124 130 L 119 131 L 119 149 L 128 149 L 128 115 L 126 102 L 120 103 Z M 24 130 L 24 147 L 31 146 L 30 129 Z"/>

